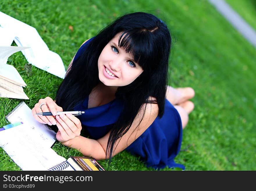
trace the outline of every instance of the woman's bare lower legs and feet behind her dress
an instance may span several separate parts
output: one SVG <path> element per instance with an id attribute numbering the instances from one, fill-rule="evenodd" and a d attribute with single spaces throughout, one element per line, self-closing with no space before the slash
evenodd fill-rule
<path id="1" fill-rule="evenodd" d="M 195 91 L 190 88 L 173 88 L 171 86 L 167 86 L 166 91 L 166 99 L 170 101 L 170 103 L 177 109 L 181 122 L 182 128 L 185 128 L 189 121 L 189 113 L 193 111 L 194 104 L 192 101 L 188 101 L 188 99 L 193 98 L 195 95 Z"/>

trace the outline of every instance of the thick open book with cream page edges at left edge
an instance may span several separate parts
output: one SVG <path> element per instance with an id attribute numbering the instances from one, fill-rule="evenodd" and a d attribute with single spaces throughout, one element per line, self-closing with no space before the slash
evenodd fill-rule
<path id="1" fill-rule="evenodd" d="M 22 87 L 26 87 L 19 72 L 6 64 L 10 55 L 29 47 L 0 46 L 0 97 L 29 99 Z"/>

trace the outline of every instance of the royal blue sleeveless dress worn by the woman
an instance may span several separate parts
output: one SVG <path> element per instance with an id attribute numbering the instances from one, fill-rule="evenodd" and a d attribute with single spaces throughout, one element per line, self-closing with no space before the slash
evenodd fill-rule
<path id="1" fill-rule="evenodd" d="M 79 48 L 74 60 L 79 58 L 90 40 Z M 81 104 L 74 107 L 74 110 L 86 111 L 85 115 L 79 115 L 77 118 L 80 119 L 83 128 L 86 128 L 91 138 L 99 139 L 111 130 L 121 113 L 122 106 L 122 100 L 116 98 L 102 106 L 88 109 L 88 97 L 86 97 Z M 169 168 L 185 169 L 183 165 L 174 162 L 181 142 L 182 124 L 179 113 L 165 99 L 163 117 L 161 119 L 157 117 L 144 133 L 125 150 L 136 156 L 141 156 L 147 167 L 161 169 L 168 166 Z"/>

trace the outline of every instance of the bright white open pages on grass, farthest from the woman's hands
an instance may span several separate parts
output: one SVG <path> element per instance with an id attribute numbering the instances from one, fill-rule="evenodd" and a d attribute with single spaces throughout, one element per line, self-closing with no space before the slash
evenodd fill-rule
<path id="1" fill-rule="evenodd" d="M 17 46 L 31 47 L 22 50 L 28 63 L 60 78 L 65 77 L 66 70 L 61 57 L 49 50 L 37 30 L 0 12 L 0 46 L 10 46 L 13 40 Z"/>

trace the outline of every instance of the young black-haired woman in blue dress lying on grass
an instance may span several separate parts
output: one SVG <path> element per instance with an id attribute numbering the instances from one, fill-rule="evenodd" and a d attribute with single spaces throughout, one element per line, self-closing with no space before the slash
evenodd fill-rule
<path id="1" fill-rule="evenodd" d="M 72 59 L 56 98 L 32 109 L 38 122 L 55 125 L 56 138 L 96 160 L 124 149 L 148 167 L 180 167 L 174 162 L 193 103 L 192 88 L 168 82 L 170 32 L 159 18 L 131 13 L 85 41 Z M 79 116 L 56 111 L 81 110 Z M 53 116 L 36 116 L 51 111 Z M 90 135 L 80 135 L 81 129 Z"/>

